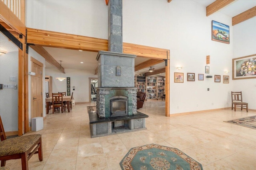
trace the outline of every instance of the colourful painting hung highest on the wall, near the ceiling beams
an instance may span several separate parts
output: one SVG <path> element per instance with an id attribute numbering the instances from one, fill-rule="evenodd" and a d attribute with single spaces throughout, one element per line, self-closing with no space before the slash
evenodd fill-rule
<path id="1" fill-rule="evenodd" d="M 212 20 L 212 41 L 229 44 L 229 26 Z"/>

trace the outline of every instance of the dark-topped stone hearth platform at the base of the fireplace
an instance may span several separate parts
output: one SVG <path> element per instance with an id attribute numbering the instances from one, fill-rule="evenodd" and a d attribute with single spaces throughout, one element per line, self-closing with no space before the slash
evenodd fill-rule
<path id="1" fill-rule="evenodd" d="M 96 112 L 89 112 L 91 137 L 101 137 L 118 133 L 146 130 L 148 115 L 137 111 L 136 115 L 99 118 Z M 114 127 L 114 124 L 122 124 Z"/>

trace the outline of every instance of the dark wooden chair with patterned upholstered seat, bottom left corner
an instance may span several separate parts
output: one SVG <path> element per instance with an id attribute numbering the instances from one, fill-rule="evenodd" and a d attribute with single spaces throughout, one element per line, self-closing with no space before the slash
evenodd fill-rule
<path id="1" fill-rule="evenodd" d="M 5 166 L 6 160 L 21 159 L 22 170 L 28 170 L 28 160 L 36 153 L 38 153 L 39 160 L 43 160 L 42 138 L 40 134 L 6 139 L 0 116 L 0 137 L 1 167 Z"/>

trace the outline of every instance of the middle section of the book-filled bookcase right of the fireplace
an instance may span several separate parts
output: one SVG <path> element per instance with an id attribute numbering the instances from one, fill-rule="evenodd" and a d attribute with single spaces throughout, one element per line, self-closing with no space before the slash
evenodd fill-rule
<path id="1" fill-rule="evenodd" d="M 146 77 L 147 80 L 147 100 L 157 99 L 157 78 L 156 77 Z"/>

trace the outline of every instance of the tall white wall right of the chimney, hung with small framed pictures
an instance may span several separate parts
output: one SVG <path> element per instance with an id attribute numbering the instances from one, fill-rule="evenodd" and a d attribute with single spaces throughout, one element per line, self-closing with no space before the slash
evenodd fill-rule
<path id="1" fill-rule="evenodd" d="M 206 55 L 210 55 L 210 74 L 224 75 L 232 70 L 230 44 L 211 40 L 212 20 L 230 25 L 232 20 L 220 13 L 206 17 L 206 8 L 189 0 L 123 1 L 124 42 L 170 49 L 170 113 L 183 113 L 230 107 L 232 83 L 214 82 L 214 78 L 198 81 L 204 73 Z M 182 70 L 176 70 L 182 66 Z M 184 83 L 174 83 L 174 72 L 184 72 Z M 196 74 L 195 82 L 187 82 L 186 74 Z M 210 88 L 210 91 L 207 91 Z"/>

